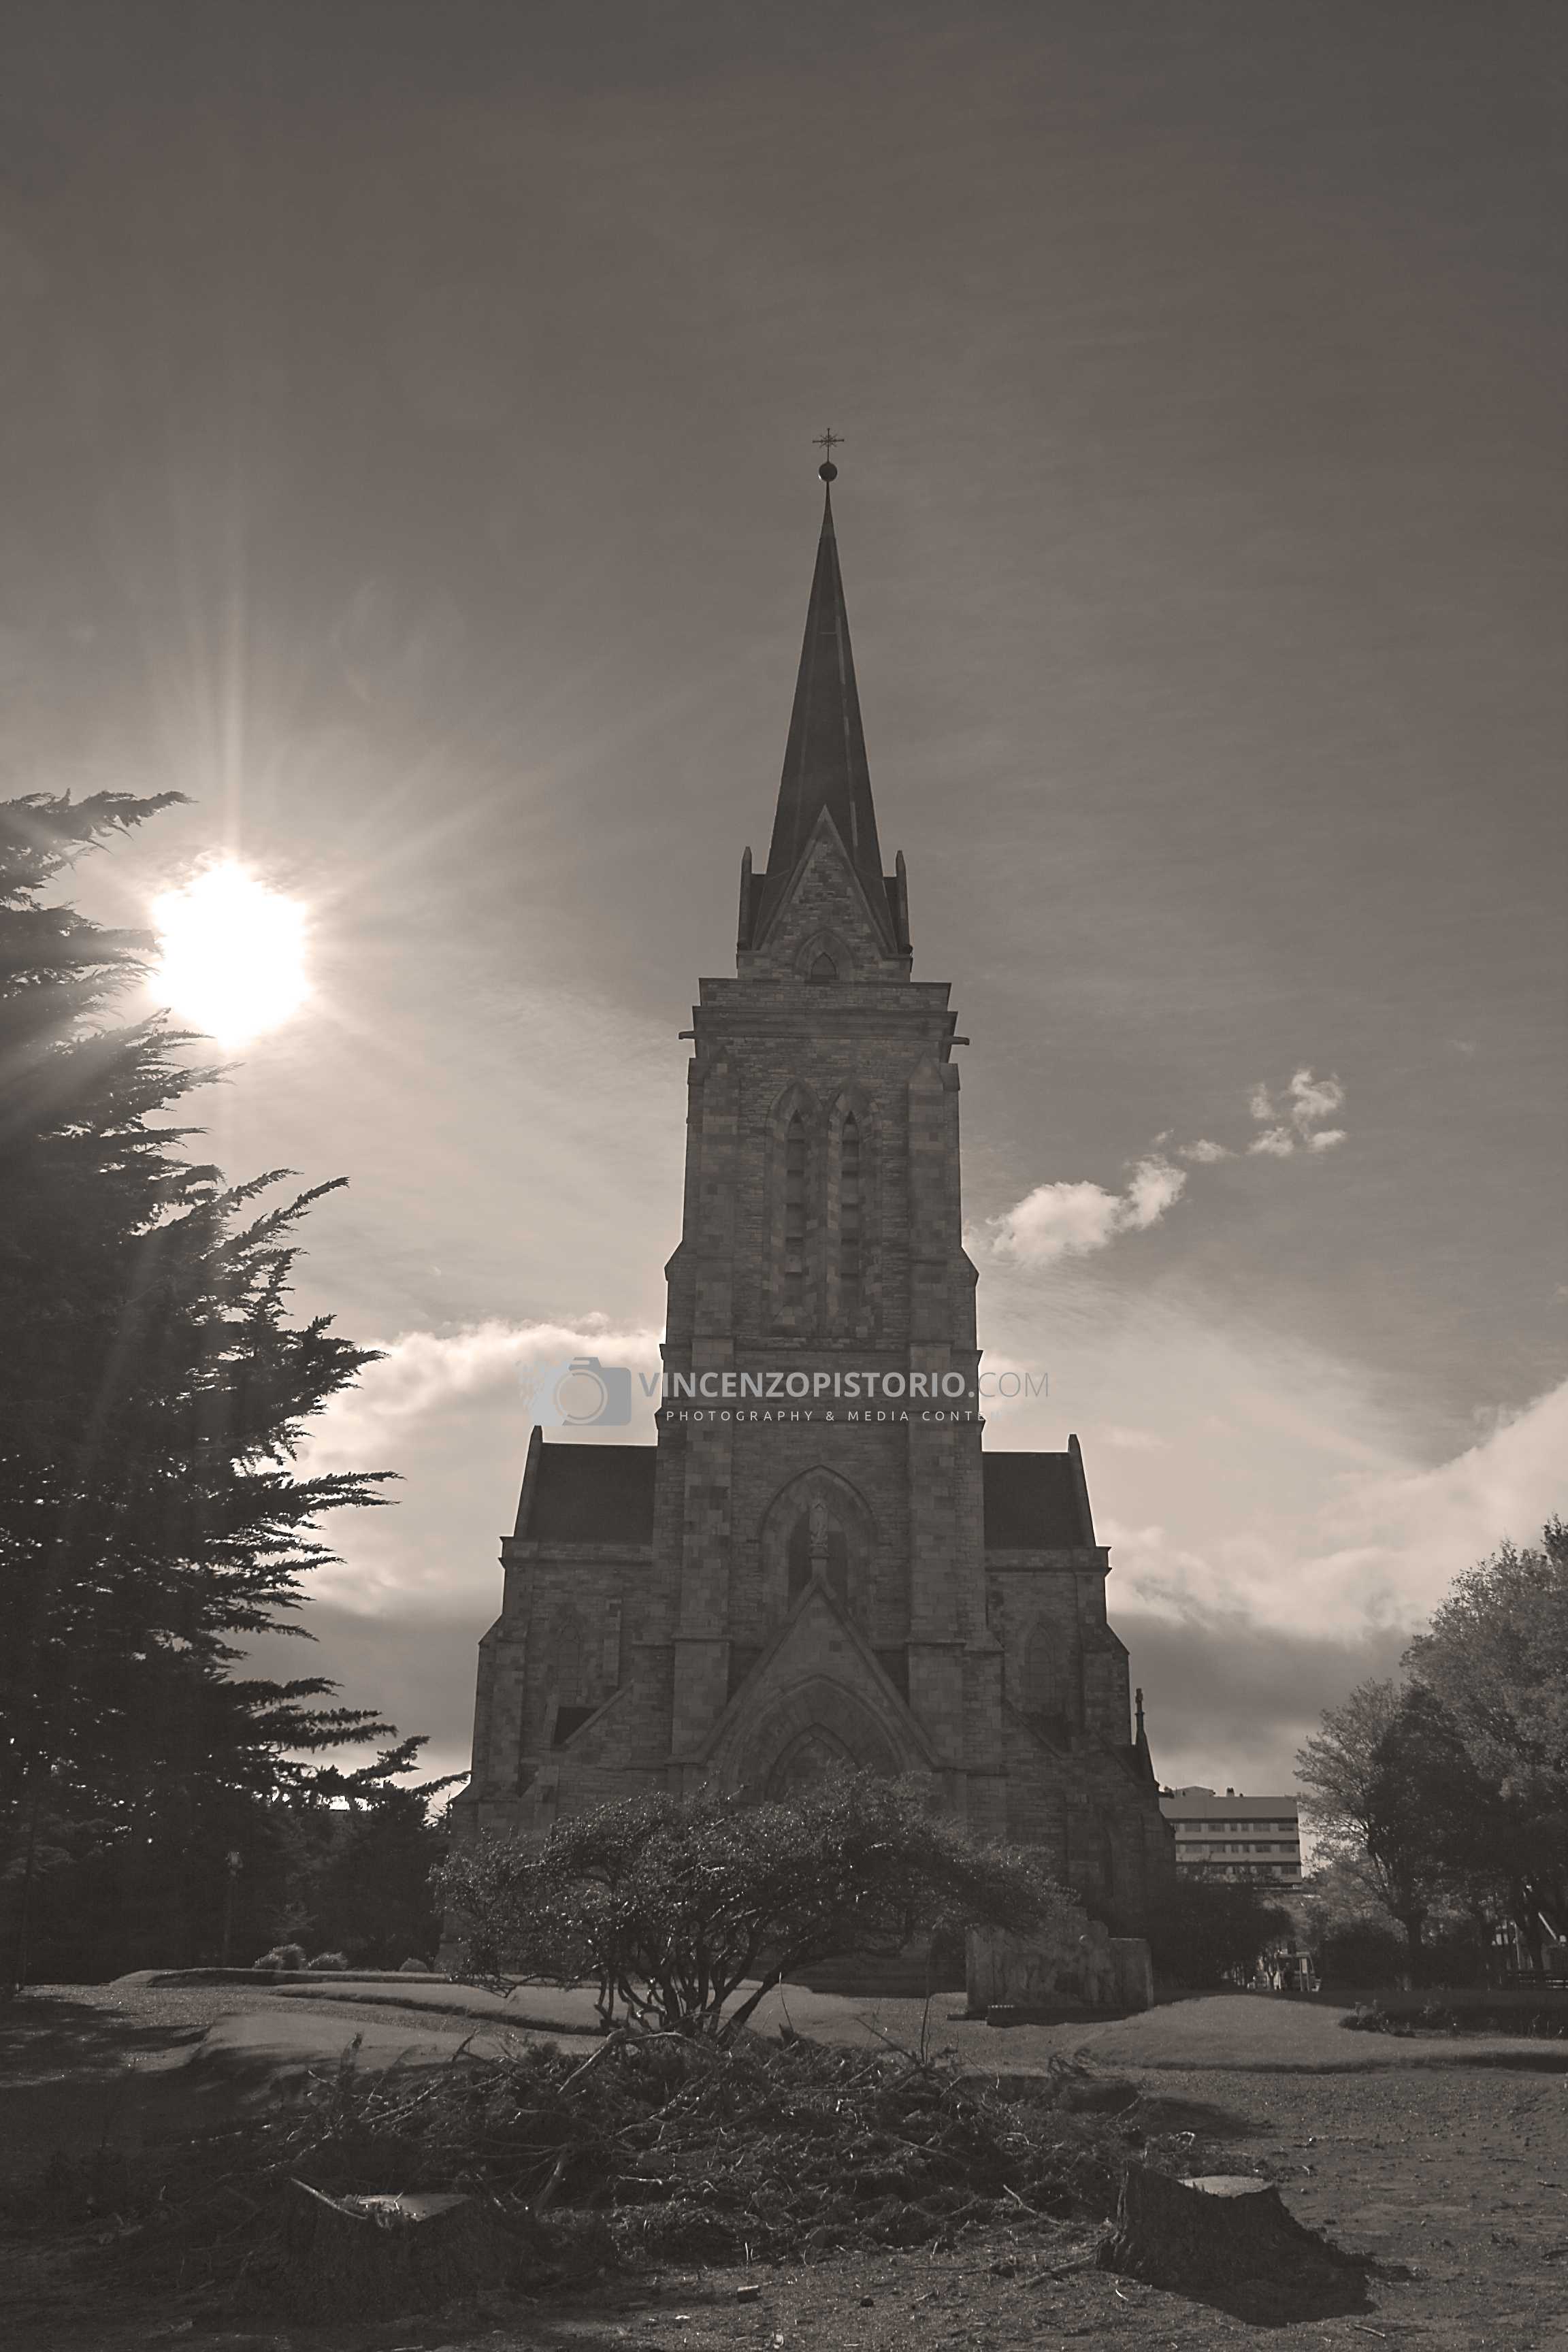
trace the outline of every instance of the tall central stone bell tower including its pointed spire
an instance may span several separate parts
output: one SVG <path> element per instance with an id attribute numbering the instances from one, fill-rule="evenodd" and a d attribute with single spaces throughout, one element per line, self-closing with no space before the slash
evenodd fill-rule
<path id="1" fill-rule="evenodd" d="M 736 976 L 693 1009 L 656 1552 L 672 1752 L 766 1785 L 769 1715 L 832 1668 L 839 1745 L 853 1698 L 865 1759 L 891 1740 L 999 1830 L 957 1016 L 910 976 L 903 858 L 882 870 L 832 473 L 769 863 L 743 856 Z"/>

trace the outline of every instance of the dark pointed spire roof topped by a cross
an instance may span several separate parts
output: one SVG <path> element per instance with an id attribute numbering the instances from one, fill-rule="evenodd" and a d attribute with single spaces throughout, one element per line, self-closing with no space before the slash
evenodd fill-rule
<path id="1" fill-rule="evenodd" d="M 837 473 L 837 468 L 832 468 Z M 816 574 L 806 607 L 806 637 L 799 649 L 795 710 L 785 743 L 773 840 L 769 847 L 769 889 L 764 915 L 795 873 L 823 809 L 832 816 L 849 858 L 865 882 L 872 906 L 886 906 L 872 774 L 865 760 L 856 663 L 849 649 L 849 614 L 839 574 L 839 543 L 832 529 L 832 473 L 823 466 L 823 536 L 816 548 Z"/>

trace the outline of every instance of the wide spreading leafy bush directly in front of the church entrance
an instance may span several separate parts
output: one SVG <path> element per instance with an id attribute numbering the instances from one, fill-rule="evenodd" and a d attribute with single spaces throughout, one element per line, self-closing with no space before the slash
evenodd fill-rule
<path id="1" fill-rule="evenodd" d="M 1070 1907 L 1039 1856 L 978 1844 L 926 1788 L 875 1773 L 788 1804 L 630 1797 L 543 1846 L 480 1839 L 442 1882 L 475 1976 L 588 1976 L 607 2020 L 621 2004 L 635 2025 L 719 2037 L 813 1959 L 893 1955 L 954 1924 L 1027 1931 Z"/>

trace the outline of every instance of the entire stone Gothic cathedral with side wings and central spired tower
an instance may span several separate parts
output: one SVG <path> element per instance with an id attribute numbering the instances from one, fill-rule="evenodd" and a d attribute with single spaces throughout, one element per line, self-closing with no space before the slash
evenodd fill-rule
<path id="1" fill-rule="evenodd" d="M 693 1009 L 658 1442 L 531 1432 L 458 1835 L 914 1773 L 1135 1931 L 1171 1830 L 1084 1458 L 987 1454 L 957 1014 L 884 873 L 832 520 L 766 870 Z"/>

